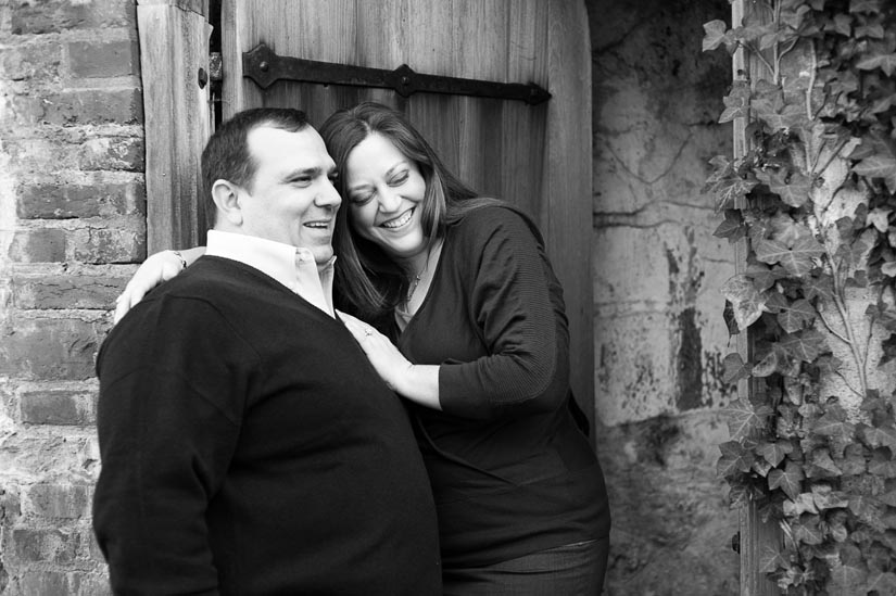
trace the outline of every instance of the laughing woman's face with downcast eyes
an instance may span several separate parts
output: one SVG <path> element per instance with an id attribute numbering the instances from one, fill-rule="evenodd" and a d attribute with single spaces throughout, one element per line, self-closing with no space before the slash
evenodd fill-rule
<path id="1" fill-rule="evenodd" d="M 426 181 L 417 164 L 392 141 L 375 132 L 349 153 L 345 189 L 356 233 L 399 261 L 426 250 L 419 208 Z"/>

